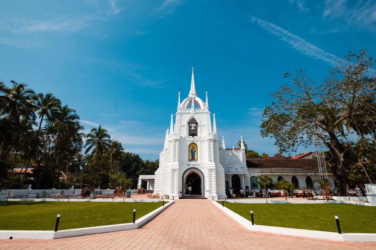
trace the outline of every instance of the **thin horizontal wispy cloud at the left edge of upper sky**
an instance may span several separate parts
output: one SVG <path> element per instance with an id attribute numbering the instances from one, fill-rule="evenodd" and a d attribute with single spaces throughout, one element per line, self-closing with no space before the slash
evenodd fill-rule
<path id="1" fill-rule="evenodd" d="M 54 20 L 2 20 L 0 29 L 6 29 L 13 33 L 31 33 L 31 32 L 75 32 L 86 28 L 91 21 L 98 20 L 94 16 L 82 16 L 78 18 L 58 17 Z"/>

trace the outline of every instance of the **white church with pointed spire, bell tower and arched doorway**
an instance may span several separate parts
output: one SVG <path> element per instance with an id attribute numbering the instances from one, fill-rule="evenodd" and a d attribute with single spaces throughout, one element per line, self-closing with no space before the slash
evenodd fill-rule
<path id="1" fill-rule="evenodd" d="M 174 121 L 175 120 L 175 121 Z M 212 121 L 212 122 L 211 122 Z M 170 199 L 203 197 L 225 199 L 225 181 L 236 191 L 250 187 L 243 140 L 240 148 L 226 148 L 205 102 L 197 96 L 193 68 L 188 97 L 178 97 L 177 112 L 171 115 L 164 148 L 155 175 L 140 176 L 147 189 L 168 195 Z M 191 192 L 189 194 L 189 189 Z"/>

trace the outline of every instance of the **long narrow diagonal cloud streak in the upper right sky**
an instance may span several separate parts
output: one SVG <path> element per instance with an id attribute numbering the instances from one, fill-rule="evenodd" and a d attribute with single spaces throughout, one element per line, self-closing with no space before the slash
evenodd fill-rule
<path id="1" fill-rule="evenodd" d="M 337 64 L 340 60 L 338 57 L 325 52 L 324 50 L 316 47 L 310 42 L 306 42 L 303 38 L 298 37 L 291 32 L 283 29 L 282 27 L 267 21 L 263 21 L 256 17 L 251 16 L 251 21 L 256 22 L 266 31 L 280 38 L 280 41 L 286 42 L 291 48 L 297 50 L 307 57 L 319 59 L 323 62 L 327 62 L 331 65 Z"/>

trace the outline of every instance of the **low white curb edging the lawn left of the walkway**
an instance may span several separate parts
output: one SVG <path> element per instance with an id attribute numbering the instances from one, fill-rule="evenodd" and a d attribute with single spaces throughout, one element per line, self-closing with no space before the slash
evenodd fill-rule
<path id="1" fill-rule="evenodd" d="M 164 211 L 164 209 L 171 206 L 173 203 L 174 201 L 169 200 L 168 203 L 164 204 L 164 207 L 157 208 L 154 211 L 142 216 L 140 219 L 136 220 L 135 223 L 124 223 L 124 224 L 82 228 L 82 229 L 67 229 L 67 230 L 61 230 L 57 232 L 38 231 L 38 230 L 35 230 L 35 231 L 0 230 L 0 239 L 9 239 L 9 237 L 13 237 L 13 239 L 61 239 L 61 238 L 67 238 L 67 237 L 96 234 L 96 233 L 106 233 L 106 232 L 138 229 L 143 224 L 147 223 L 148 221 L 153 219 L 155 216 L 157 216 L 159 213 Z"/>

